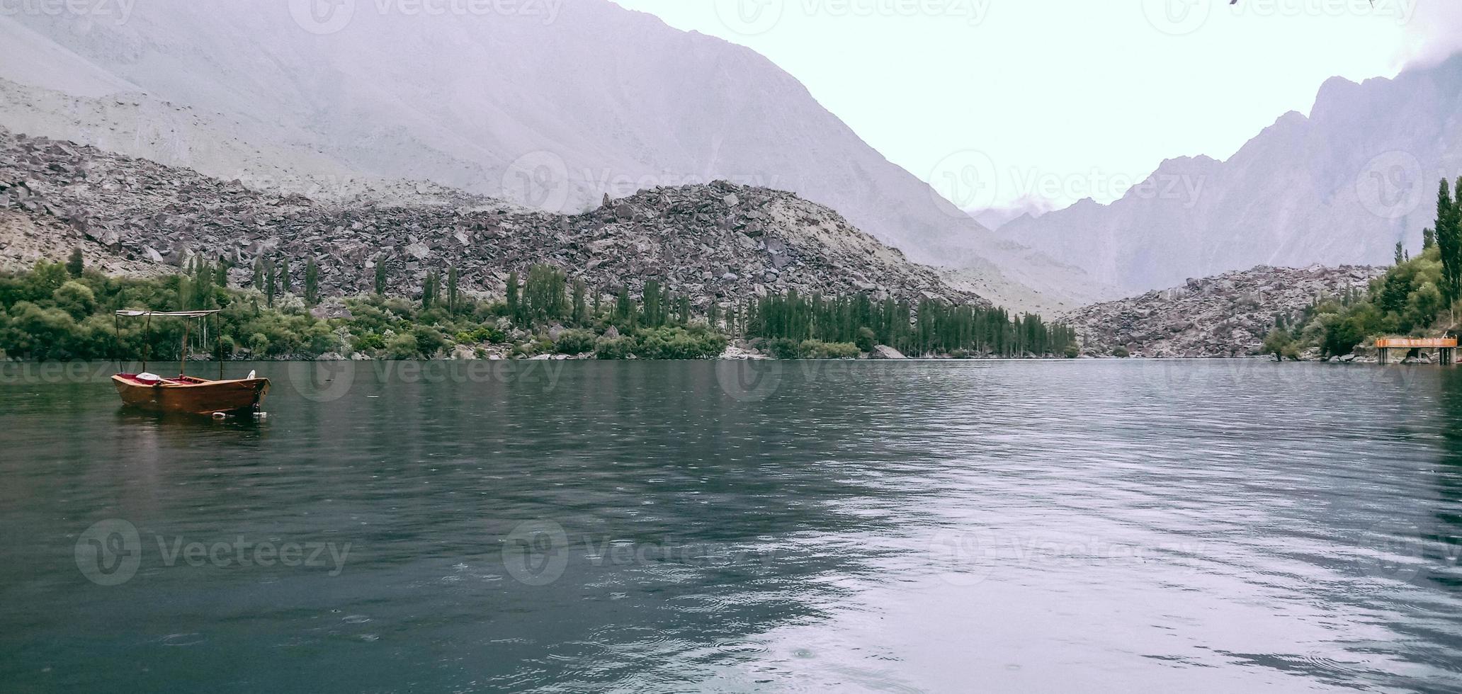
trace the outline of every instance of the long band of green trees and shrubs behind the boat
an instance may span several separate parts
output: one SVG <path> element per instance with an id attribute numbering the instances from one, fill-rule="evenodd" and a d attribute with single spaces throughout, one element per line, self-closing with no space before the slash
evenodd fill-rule
<path id="1" fill-rule="evenodd" d="M 589 288 L 563 269 L 535 264 L 513 272 L 501 300 L 461 288 L 459 272 L 425 273 L 417 297 L 389 292 L 385 262 L 376 263 L 374 294 L 342 298 L 339 319 L 316 319 L 319 266 L 306 259 L 297 285 L 288 259 L 260 257 L 244 286 L 230 286 L 227 259 L 192 257 L 162 278 L 107 276 L 85 267 L 80 251 L 63 263 L 0 275 L 0 352 L 20 358 L 114 358 L 180 352 L 177 330 L 154 335 L 118 326 L 118 308 L 221 310 L 216 349 L 225 356 L 314 358 L 326 352 L 421 358 L 468 348 L 480 355 L 512 345 L 513 356 L 586 354 L 599 358 L 705 358 L 730 339 L 787 358 L 841 358 L 890 345 L 911 354 L 1018 356 L 1073 349 L 1070 329 L 1037 316 L 999 308 L 909 304 L 867 294 L 800 297 L 795 291 L 721 304 L 697 304 L 658 279 L 639 292 L 627 285 Z M 300 291 L 297 294 L 297 291 Z M 120 329 L 120 332 L 118 332 Z M 791 346 L 788 346 L 791 345 Z M 145 349 L 143 349 L 145 348 Z M 215 346 L 196 345 L 194 352 Z"/>

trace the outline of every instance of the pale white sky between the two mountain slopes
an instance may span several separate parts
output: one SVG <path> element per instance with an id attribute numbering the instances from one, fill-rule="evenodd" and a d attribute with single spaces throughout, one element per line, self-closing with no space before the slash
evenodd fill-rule
<path id="1" fill-rule="evenodd" d="M 1110 202 L 1171 156 L 1231 156 L 1339 75 L 1462 47 L 1458 0 L 616 0 L 747 45 L 965 207 Z M 972 190 L 950 187 L 949 190 Z"/>

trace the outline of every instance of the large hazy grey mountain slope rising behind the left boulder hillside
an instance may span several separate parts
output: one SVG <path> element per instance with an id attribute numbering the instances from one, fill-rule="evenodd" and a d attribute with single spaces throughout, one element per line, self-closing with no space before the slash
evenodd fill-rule
<path id="1" fill-rule="evenodd" d="M 1102 294 L 949 205 L 749 48 L 607 0 L 449 4 L 0 18 L 0 124 L 322 199 L 405 178 L 579 212 L 727 180 L 836 209 L 996 294 Z"/>

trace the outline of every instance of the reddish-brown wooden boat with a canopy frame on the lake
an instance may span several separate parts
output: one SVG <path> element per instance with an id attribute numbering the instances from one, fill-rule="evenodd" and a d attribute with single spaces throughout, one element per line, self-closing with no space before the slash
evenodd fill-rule
<path id="1" fill-rule="evenodd" d="M 118 317 L 146 317 L 149 327 L 152 326 L 154 316 L 165 319 L 206 319 L 215 314 L 218 311 L 117 311 Z M 146 355 L 143 355 L 142 373 L 114 374 L 111 383 L 117 387 L 121 402 L 135 408 L 192 415 L 238 415 L 259 411 L 265 394 L 269 393 L 269 378 L 254 378 L 254 374 L 250 373 L 249 378 L 225 380 L 222 355 L 219 355 L 218 361 L 218 380 L 184 375 L 187 352 L 187 330 L 184 330 L 183 359 L 178 364 L 177 378 L 164 378 L 148 373 Z"/>

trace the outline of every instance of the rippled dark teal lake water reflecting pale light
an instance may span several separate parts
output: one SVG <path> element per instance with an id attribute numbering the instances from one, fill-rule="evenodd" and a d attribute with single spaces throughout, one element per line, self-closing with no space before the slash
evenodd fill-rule
<path id="1" fill-rule="evenodd" d="M 6 368 L 7 693 L 1462 690 L 1462 371 Z"/>

